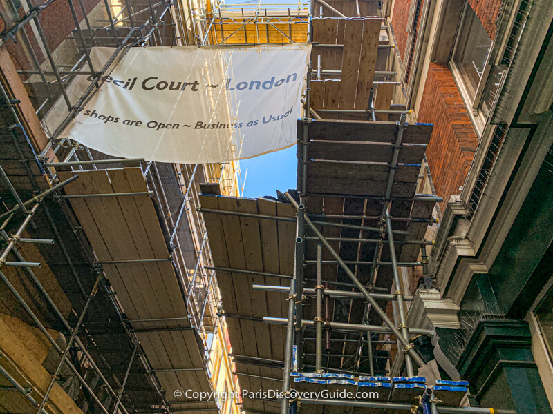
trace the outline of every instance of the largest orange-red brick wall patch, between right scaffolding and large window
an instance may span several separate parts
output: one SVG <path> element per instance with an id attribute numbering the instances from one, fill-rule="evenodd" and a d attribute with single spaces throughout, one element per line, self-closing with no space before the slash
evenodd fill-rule
<path id="1" fill-rule="evenodd" d="M 465 183 L 478 137 L 447 65 L 430 63 L 418 122 L 434 124 L 427 159 L 436 193 L 444 197 L 442 212 L 451 195 Z"/>

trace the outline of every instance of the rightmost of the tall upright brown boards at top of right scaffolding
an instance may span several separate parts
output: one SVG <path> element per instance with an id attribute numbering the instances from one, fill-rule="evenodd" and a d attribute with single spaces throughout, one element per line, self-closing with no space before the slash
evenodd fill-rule
<path id="1" fill-rule="evenodd" d="M 380 19 L 365 19 L 363 21 L 359 77 L 357 79 L 357 92 L 355 93 L 355 109 L 358 110 L 366 110 L 368 108 L 369 92 L 373 88 L 373 80 L 375 78 L 380 22 Z"/>

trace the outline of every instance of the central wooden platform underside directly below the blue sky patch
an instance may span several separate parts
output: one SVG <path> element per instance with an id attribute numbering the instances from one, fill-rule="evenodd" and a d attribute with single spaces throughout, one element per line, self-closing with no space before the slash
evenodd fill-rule
<path id="1" fill-rule="evenodd" d="M 200 195 L 203 208 L 243 213 L 294 217 L 290 204 L 267 199 L 236 199 Z M 294 248 L 294 222 L 238 217 L 225 214 L 203 213 L 214 265 L 267 273 L 292 275 Z M 264 316 L 286 317 L 286 295 L 252 290 L 253 284 L 289 286 L 289 280 L 277 277 L 247 275 L 217 271 L 223 309 L 230 315 L 255 319 Z M 245 357 L 260 357 L 283 361 L 285 326 L 265 324 L 261 320 L 226 317 L 233 353 Z M 281 368 L 245 364 L 236 359 L 236 371 L 246 375 L 282 378 Z M 259 391 L 279 389 L 276 381 L 240 375 L 242 389 Z M 278 404 L 245 398 L 244 408 L 268 413 L 278 412 Z"/>

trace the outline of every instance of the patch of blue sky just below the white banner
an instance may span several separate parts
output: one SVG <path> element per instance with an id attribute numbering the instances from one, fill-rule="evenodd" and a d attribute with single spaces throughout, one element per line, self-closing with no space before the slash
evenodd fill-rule
<path id="1" fill-rule="evenodd" d="M 296 188 L 296 146 L 243 159 L 240 161 L 240 168 L 242 178 L 247 169 L 243 197 L 256 198 L 264 195 L 277 197 L 277 190 L 284 193 L 289 188 Z"/>

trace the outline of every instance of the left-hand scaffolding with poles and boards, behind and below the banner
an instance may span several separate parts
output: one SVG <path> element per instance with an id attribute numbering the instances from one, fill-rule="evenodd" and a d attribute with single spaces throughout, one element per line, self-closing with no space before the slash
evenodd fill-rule
<path id="1" fill-rule="evenodd" d="M 39 329 L 53 346 L 48 360 L 54 362 L 43 389 L 17 361 L 0 353 L 0 383 L 7 381 L 10 388 L 1 392 L 10 393 L 8 401 L 13 391 L 21 393 L 12 411 L 29 409 L 29 404 L 30 410 L 38 413 L 86 411 L 89 407 L 106 414 L 220 411 L 222 406 L 215 400 L 180 401 L 172 390 L 214 389 L 209 372 L 214 340 L 210 338 L 225 328 L 216 317 L 219 293 L 214 270 L 204 267 L 212 264 L 212 256 L 203 217 L 197 211 L 198 194 L 203 186 L 211 186 L 222 194 L 238 195 L 243 188 L 238 164 L 170 165 L 115 159 L 57 139 L 96 92 L 111 63 L 128 48 L 194 44 L 187 27 L 191 10 L 180 2 L 165 1 L 100 1 L 90 10 L 89 3 L 79 0 L 68 2 L 66 16 L 52 19 L 50 14 L 46 20 L 41 15 L 50 12 L 52 1 L 38 7 L 28 2 L 23 17 L 15 3 L 10 4 L 12 14 L 4 14 L 8 28 L 2 34 L 0 50 L 5 121 L 0 137 L 1 313 Z M 65 17 L 73 19 L 75 26 L 57 44 L 51 37 L 51 25 Z M 113 48 L 103 68 L 93 67 L 91 62 L 90 50 L 95 46 Z M 17 66 L 10 55 L 19 57 Z M 79 97 L 68 96 L 68 83 L 83 73 L 93 79 L 88 90 Z M 65 103 L 68 115 L 46 135 L 39 119 L 58 99 Z M 135 179 L 133 183 L 122 179 L 127 173 Z M 93 187 L 84 187 L 79 179 L 88 180 Z M 79 184 L 71 186 L 75 183 Z M 130 186 L 136 184 L 140 189 L 132 190 Z M 90 223 L 83 226 L 84 219 L 79 217 L 84 210 L 98 217 L 105 208 L 138 205 L 142 206 L 140 213 L 149 211 L 151 217 L 144 240 L 156 252 L 165 249 L 162 255 L 118 256 L 122 250 L 113 247 L 106 255 L 93 243 L 89 231 L 93 227 Z M 127 220 L 129 214 L 131 210 L 123 212 Z M 140 222 L 141 217 L 136 217 Z M 158 236 L 157 242 L 152 235 Z M 30 249 L 29 245 L 37 247 Z M 131 269 L 139 268 L 149 275 L 152 269 L 164 269 L 163 277 L 174 283 L 171 295 L 182 302 L 182 315 L 131 317 L 132 301 L 112 283 L 114 269 L 129 277 Z M 59 288 L 53 290 L 54 285 Z M 180 359 L 155 359 L 147 342 L 156 335 L 182 335 L 180 351 L 173 357 L 189 350 L 194 353 L 190 364 Z M 62 406 L 68 402 L 60 400 L 59 384 L 73 404 Z"/>

